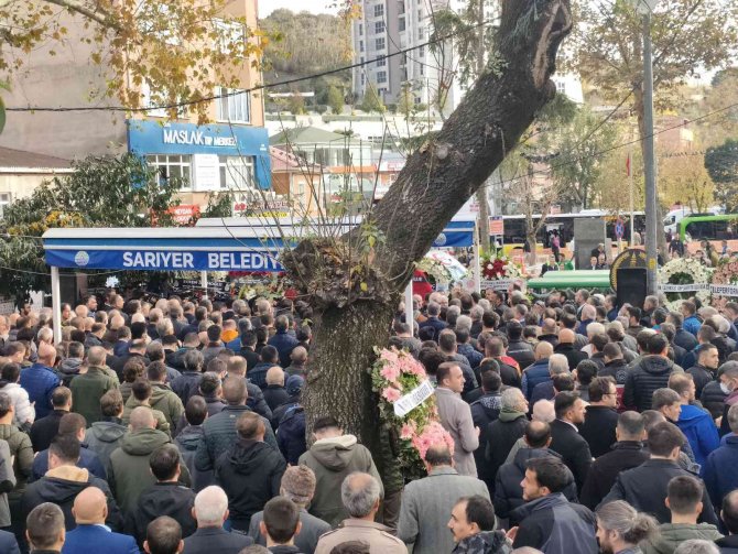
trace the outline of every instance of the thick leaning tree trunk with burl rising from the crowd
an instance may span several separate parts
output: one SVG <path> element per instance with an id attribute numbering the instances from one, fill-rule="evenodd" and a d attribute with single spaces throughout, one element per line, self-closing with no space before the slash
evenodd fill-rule
<path id="1" fill-rule="evenodd" d="M 387 344 L 414 263 L 553 98 L 550 77 L 571 26 L 569 0 L 504 0 L 500 73 L 487 70 L 477 79 L 442 130 L 408 159 L 361 228 L 285 252 L 287 271 L 316 309 L 304 392 L 308 435 L 316 417 L 333 415 L 362 442 L 376 443 L 376 399 L 367 374 L 372 347 Z M 368 235 L 377 232 L 381 240 L 369 242 Z"/>

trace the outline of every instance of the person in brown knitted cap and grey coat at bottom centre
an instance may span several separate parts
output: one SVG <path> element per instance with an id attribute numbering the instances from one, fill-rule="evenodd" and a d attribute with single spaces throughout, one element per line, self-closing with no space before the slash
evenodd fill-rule
<path id="1" fill-rule="evenodd" d="M 300 508 L 302 528 L 295 536 L 295 546 L 303 554 L 313 554 L 317 540 L 323 533 L 330 531 L 325 521 L 307 513 L 306 507 L 315 493 L 315 474 L 307 466 L 290 466 L 282 476 L 280 496 L 289 498 Z M 259 523 L 264 512 L 254 513 L 249 525 L 249 536 L 253 542 L 267 545 L 267 539 L 259 532 Z"/>

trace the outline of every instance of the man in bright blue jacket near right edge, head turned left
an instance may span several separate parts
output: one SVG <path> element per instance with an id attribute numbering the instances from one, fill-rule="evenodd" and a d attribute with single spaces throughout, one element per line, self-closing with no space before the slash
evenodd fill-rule
<path id="1" fill-rule="evenodd" d="M 694 402 L 696 388 L 690 373 L 672 374 L 669 378 L 669 388 L 680 397 L 682 411 L 679 420 L 676 420 L 676 426 L 690 442 L 695 461 L 703 467 L 702 474 L 707 456 L 720 446 L 720 437 L 715 421 L 708 412 L 691 404 L 691 402 Z"/>

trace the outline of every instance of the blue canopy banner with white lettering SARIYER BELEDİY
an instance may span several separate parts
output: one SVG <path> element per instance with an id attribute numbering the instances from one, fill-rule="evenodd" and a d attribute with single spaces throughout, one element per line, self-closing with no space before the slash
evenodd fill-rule
<path id="1" fill-rule="evenodd" d="M 46 263 L 57 268 L 149 271 L 284 271 L 276 252 L 171 250 L 46 250 Z"/>

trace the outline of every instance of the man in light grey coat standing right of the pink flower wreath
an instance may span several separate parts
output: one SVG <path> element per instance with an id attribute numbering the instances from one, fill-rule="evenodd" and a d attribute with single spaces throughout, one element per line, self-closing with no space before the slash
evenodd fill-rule
<path id="1" fill-rule="evenodd" d="M 441 424 L 454 438 L 454 465 L 459 475 L 477 477 L 474 450 L 479 447 L 479 427 L 474 426 L 471 409 L 462 400 L 464 372 L 455 361 L 438 366 L 435 390 Z"/>

